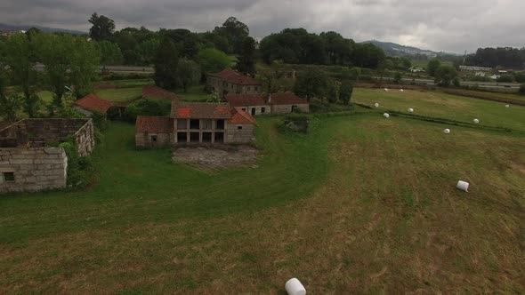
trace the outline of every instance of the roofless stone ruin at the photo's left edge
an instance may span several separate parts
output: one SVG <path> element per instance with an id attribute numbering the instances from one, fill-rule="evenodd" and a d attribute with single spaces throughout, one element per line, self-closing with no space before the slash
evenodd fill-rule
<path id="1" fill-rule="evenodd" d="M 51 147 L 68 137 L 78 155 L 90 155 L 93 120 L 23 119 L 0 130 L 0 193 L 66 187 L 68 156 Z"/>

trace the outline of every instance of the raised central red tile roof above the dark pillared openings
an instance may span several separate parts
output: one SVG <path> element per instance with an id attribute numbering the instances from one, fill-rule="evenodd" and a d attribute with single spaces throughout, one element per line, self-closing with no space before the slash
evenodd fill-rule
<path id="1" fill-rule="evenodd" d="M 192 119 L 230 119 L 228 102 L 188 102 L 174 101 L 172 117 Z"/>

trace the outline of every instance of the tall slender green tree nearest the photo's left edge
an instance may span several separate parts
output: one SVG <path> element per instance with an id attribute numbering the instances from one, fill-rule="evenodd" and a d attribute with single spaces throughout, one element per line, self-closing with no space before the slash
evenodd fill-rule
<path id="1" fill-rule="evenodd" d="M 25 34 L 10 36 L 5 42 L 5 50 L 9 54 L 5 57 L 5 64 L 9 66 L 12 83 L 20 87 L 24 97 L 24 111 L 29 117 L 34 117 L 38 110 L 38 96 L 34 95 L 36 84 L 35 54 L 33 46 Z"/>

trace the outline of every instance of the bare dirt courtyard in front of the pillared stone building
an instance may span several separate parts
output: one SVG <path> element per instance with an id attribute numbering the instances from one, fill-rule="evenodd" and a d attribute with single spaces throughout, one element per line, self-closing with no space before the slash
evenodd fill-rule
<path id="1" fill-rule="evenodd" d="M 254 164 L 257 149 L 250 146 L 214 146 L 174 148 L 174 163 L 187 163 L 198 170 L 216 171 L 233 166 Z"/>

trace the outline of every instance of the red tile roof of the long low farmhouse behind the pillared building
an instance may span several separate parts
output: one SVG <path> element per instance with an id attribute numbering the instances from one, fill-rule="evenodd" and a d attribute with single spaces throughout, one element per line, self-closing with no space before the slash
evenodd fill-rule
<path id="1" fill-rule="evenodd" d="M 303 100 L 292 92 L 276 92 L 267 94 L 227 94 L 226 100 L 230 102 L 231 107 L 252 107 L 268 105 L 303 105 L 308 100 Z"/>

